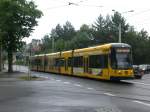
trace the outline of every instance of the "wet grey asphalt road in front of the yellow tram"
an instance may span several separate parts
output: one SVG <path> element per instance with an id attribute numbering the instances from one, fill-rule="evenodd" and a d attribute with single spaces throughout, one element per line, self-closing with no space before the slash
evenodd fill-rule
<path id="1" fill-rule="evenodd" d="M 0 112 L 150 112 L 150 74 L 121 82 L 31 74 L 46 80 L 0 78 Z"/>

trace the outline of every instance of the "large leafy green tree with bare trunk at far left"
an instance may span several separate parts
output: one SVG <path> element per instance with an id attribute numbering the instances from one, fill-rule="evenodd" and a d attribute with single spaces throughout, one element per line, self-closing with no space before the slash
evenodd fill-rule
<path id="1" fill-rule="evenodd" d="M 13 52 L 21 48 L 22 39 L 30 36 L 41 16 L 33 1 L 0 0 L 0 29 L 6 32 L 2 43 L 8 53 L 8 72 L 13 71 Z"/>

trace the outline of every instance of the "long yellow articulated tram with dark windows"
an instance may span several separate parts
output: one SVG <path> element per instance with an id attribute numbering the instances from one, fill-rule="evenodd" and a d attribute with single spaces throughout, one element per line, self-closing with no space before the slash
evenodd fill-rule
<path id="1" fill-rule="evenodd" d="M 31 58 L 31 70 L 103 80 L 133 79 L 131 46 L 109 43 Z"/>

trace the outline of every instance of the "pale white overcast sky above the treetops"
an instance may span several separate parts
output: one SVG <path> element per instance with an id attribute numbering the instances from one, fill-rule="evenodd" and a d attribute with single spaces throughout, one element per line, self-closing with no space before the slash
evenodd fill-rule
<path id="1" fill-rule="evenodd" d="M 112 15 L 112 10 L 119 11 L 126 18 L 127 23 L 135 26 L 139 31 L 142 28 L 150 34 L 150 1 L 149 0 L 33 0 L 44 16 L 39 19 L 38 26 L 28 39 L 41 39 L 50 33 L 57 24 L 70 21 L 76 30 L 82 24 L 91 25 L 100 14 Z M 75 5 L 68 5 L 75 3 Z M 134 12 L 123 13 L 129 10 Z"/>

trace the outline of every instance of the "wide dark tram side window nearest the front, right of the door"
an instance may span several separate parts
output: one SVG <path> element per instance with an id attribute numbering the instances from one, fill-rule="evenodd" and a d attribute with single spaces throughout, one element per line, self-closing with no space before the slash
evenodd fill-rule
<path id="1" fill-rule="evenodd" d="M 91 55 L 89 57 L 90 68 L 107 68 L 108 56 L 107 55 Z"/>

